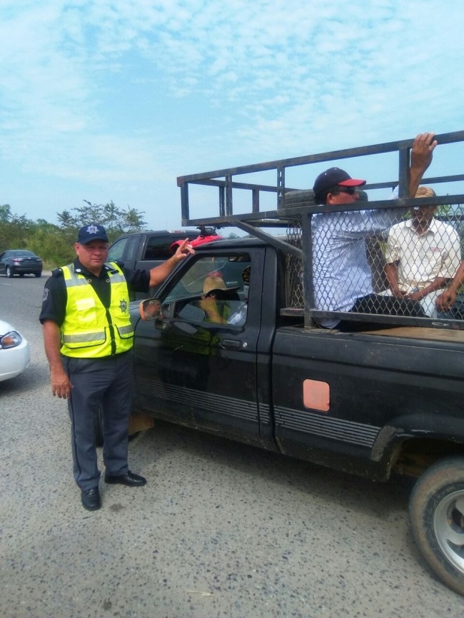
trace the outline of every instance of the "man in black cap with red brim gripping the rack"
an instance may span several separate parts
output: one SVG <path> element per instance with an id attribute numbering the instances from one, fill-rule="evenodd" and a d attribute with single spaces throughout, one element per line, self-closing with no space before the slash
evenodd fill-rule
<path id="1" fill-rule="evenodd" d="M 437 145 L 434 133 L 421 133 L 413 143 L 409 194 L 414 196 Z M 340 168 L 321 173 L 313 186 L 316 203 L 338 206 L 358 201 L 356 189 L 364 180 L 351 178 Z M 316 308 L 331 312 L 423 316 L 418 303 L 375 294 L 365 238 L 390 228 L 403 213 L 398 208 L 320 213 L 312 218 L 313 285 Z M 395 301 L 395 302 L 393 302 Z M 350 320 L 323 318 L 326 328 L 353 330 Z M 361 328 L 363 324 L 361 324 Z"/>

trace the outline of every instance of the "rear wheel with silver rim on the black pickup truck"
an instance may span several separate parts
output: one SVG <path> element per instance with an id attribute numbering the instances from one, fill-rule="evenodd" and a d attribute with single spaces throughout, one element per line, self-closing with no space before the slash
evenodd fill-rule
<path id="1" fill-rule="evenodd" d="M 444 584 L 464 595 L 464 457 L 447 457 L 419 477 L 409 517 L 425 562 Z"/>

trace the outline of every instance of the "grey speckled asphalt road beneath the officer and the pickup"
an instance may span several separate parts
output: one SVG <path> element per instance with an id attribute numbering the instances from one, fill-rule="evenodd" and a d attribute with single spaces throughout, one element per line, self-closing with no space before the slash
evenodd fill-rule
<path id="1" fill-rule="evenodd" d="M 0 277 L 0 316 L 32 356 L 0 383 L 2 618 L 464 617 L 410 538 L 409 480 L 157 422 L 130 445 L 148 485 L 102 480 L 103 507 L 85 511 L 66 404 L 49 390 L 44 282 Z"/>

